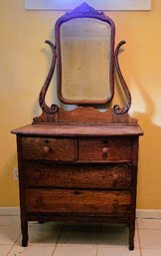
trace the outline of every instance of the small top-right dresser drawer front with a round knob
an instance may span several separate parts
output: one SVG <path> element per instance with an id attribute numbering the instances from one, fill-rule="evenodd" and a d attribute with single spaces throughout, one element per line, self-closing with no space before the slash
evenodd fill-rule
<path id="1" fill-rule="evenodd" d="M 132 158 L 130 138 L 80 138 L 79 159 L 82 161 L 128 161 Z"/>

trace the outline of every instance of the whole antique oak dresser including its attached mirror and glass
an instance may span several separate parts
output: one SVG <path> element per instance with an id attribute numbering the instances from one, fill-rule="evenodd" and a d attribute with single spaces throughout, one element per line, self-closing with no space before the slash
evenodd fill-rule
<path id="1" fill-rule="evenodd" d="M 28 221 L 125 223 L 134 249 L 138 139 L 131 96 L 114 51 L 114 23 L 83 3 L 56 23 L 42 115 L 17 135 L 22 245 Z M 57 64 L 60 105 L 45 98 Z M 114 105 L 114 70 L 124 95 Z M 122 97 L 123 98 L 123 97 Z M 67 109 L 71 106 L 73 109 Z M 104 109 L 103 109 L 104 108 Z M 101 109 L 101 110 L 100 110 Z"/>

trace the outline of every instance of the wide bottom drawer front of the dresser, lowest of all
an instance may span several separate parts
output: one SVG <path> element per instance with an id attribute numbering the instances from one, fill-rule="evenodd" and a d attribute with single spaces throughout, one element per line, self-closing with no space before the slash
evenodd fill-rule
<path id="1" fill-rule="evenodd" d="M 130 193 L 72 189 L 27 189 L 26 207 L 28 213 L 123 214 L 130 210 Z"/>

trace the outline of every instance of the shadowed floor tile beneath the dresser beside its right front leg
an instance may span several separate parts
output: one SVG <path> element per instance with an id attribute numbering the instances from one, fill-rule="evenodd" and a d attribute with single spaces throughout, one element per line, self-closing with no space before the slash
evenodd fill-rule
<path id="1" fill-rule="evenodd" d="M 103 225 L 101 227 L 99 245 L 104 247 L 128 247 L 129 229 L 123 225 Z M 137 228 L 134 238 L 135 248 L 139 247 Z"/>

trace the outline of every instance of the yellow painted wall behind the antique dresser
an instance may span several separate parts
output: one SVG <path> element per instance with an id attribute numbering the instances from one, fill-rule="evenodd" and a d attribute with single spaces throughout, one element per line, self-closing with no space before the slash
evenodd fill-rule
<path id="1" fill-rule="evenodd" d="M 24 11 L 24 1 L 0 3 L 0 206 L 18 206 L 17 128 L 40 114 L 38 95 L 50 65 L 55 21 L 63 12 Z M 140 139 L 138 198 L 140 209 L 161 209 L 161 1 L 150 12 L 109 12 L 116 43 L 127 44 L 120 65 L 132 94 L 130 114 L 144 129 Z M 52 103 L 49 97 L 49 102 Z"/>

